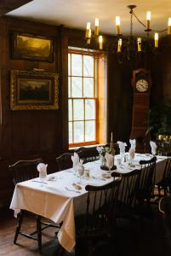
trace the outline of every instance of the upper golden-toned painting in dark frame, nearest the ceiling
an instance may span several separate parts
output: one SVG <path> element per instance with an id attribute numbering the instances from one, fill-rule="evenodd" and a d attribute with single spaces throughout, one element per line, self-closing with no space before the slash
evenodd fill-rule
<path id="1" fill-rule="evenodd" d="M 54 61 L 54 40 L 14 32 L 12 57 L 29 61 Z"/>

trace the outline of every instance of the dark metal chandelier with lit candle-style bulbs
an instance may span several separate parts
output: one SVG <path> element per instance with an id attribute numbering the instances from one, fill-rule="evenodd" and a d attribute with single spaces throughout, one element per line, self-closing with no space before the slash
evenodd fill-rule
<path id="1" fill-rule="evenodd" d="M 146 24 L 144 24 L 137 15 L 134 13 L 136 5 L 128 5 L 130 14 L 130 33 L 128 37 L 123 37 L 121 33 L 120 17 L 116 17 L 116 29 L 117 35 L 112 44 L 105 45 L 103 42 L 103 36 L 100 35 L 99 19 L 95 19 L 94 32 L 92 32 L 90 22 L 87 22 L 87 29 L 85 34 L 86 44 L 90 47 L 92 40 L 95 39 L 99 44 L 99 49 L 116 49 L 118 55 L 118 61 L 123 62 L 123 58 L 126 57 L 128 61 L 134 60 L 134 56 L 140 56 L 145 52 L 155 52 L 158 48 L 158 38 L 159 33 L 167 32 L 168 35 L 171 34 L 171 18 L 168 18 L 168 28 L 163 30 L 153 30 L 151 29 L 151 12 L 146 12 Z M 135 38 L 133 35 L 133 17 L 144 27 L 145 37 Z M 151 32 L 154 33 L 154 40 L 151 39 Z"/>

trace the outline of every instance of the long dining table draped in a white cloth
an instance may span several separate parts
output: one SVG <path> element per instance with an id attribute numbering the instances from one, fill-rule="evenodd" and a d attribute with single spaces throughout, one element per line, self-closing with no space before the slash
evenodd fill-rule
<path id="1" fill-rule="evenodd" d="M 126 154 L 128 156 L 128 154 Z M 130 163 L 121 156 L 115 155 L 114 161 L 117 169 L 111 172 L 126 173 L 140 169 L 140 160 L 150 160 L 151 154 L 135 154 Z M 157 156 L 155 183 L 162 179 L 167 157 Z M 105 185 L 113 180 L 111 174 L 100 169 L 100 160 L 84 164 L 88 175 L 77 176 L 73 168 L 49 174 L 45 180 L 39 177 L 17 183 L 10 204 L 14 210 L 14 217 L 20 210 L 27 210 L 48 218 L 60 225 L 57 233 L 60 245 L 71 252 L 76 244 L 75 217 L 86 212 L 87 191 L 85 186 Z"/>

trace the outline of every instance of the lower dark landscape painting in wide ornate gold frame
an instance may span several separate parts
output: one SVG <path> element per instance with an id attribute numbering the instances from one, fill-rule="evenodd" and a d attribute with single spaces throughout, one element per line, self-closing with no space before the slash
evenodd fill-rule
<path id="1" fill-rule="evenodd" d="M 11 70 L 11 110 L 59 108 L 59 75 L 40 71 Z"/>

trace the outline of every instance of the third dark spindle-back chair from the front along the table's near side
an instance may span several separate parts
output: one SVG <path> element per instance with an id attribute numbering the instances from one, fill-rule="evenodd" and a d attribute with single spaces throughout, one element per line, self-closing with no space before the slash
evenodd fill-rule
<path id="1" fill-rule="evenodd" d="M 140 179 L 135 199 L 138 202 L 141 218 L 144 217 L 144 203 L 147 204 L 150 216 L 151 211 L 151 198 L 154 198 L 155 187 L 155 173 L 156 173 L 157 158 L 153 157 L 151 160 L 140 160 Z"/>

